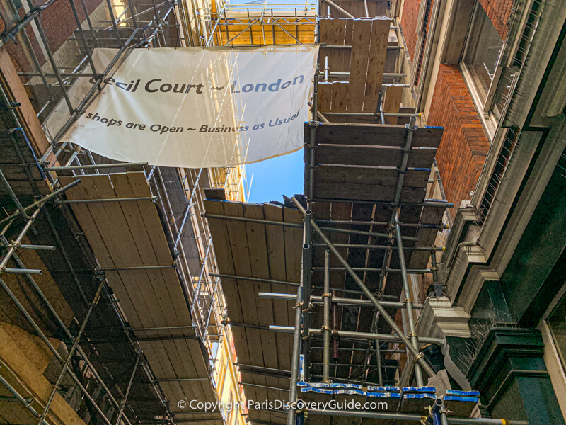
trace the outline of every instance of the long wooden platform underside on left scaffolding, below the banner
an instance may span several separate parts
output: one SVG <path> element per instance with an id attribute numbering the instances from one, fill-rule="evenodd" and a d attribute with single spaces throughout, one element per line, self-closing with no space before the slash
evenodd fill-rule
<path id="1" fill-rule="evenodd" d="M 81 183 L 66 192 L 69 199 L 151 196 L 144 173 L 80 178 Z M 62 177 L 61 181 L 68 184 L 74 179 Z M 156 205 L 151 201 L 78 203 L 73 204 L 72 210 L 100 268 L 173 263 Z M 175 269 L 106 271 L 105 276 L 132 328 L 191 326 L 189 307 Z M 154 339 L 187 336 L 187 339 L 140 342 L 158 380 L 208 377 L 207 363 L 192 329 L 137 331 L 136 336 Z M 215 397 L 208 380 L 160 385 L 170 400 L 209 401 Z M 180 410 L 176 403 L 171 407 L 173 412 Z"/>

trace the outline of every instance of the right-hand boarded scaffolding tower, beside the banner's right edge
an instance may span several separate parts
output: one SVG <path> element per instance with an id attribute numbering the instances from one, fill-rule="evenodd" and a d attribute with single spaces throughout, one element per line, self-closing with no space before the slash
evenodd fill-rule
<path id="1" fill-rule="evenodd" d="M 437 370 L 423 345 L 446 341 L 417 335 L 415 312 L 423 304 L 411 275 L 432 276 L 432 294 L 441 294 L 443 247 L 435 240 L 453 205 L 425 198 L 443 130 L 418 125 L 420 115 L 403 108 L 410 85 L 398 72 L 398 28 L 380 7 L 320 4 L 305 199 L 284 207 L 205 201 L 241 383 L 248 397 L 287 402 L 282 409 L 252 407 L 248 419 L 526 424 L 471 418 L 478 392 L 437 397 L 427 386 Z M 346 400 L 389 407 L 308 405 Z"/>

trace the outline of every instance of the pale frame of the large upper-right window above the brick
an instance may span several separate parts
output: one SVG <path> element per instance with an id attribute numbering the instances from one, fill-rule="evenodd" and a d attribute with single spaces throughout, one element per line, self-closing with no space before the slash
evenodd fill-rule
<path id="1" fill-rule="evenodd" d="M 470 36 L 472 34 L 472 30 L 474 28 L 475 22 L 478 18 L 479 11 L 483 10 L 479 1 L 475 2 L 475 6 L 472 12 L 472 18 L 470 19 L 470 24 L 468 25 L 468 31 L 466 33 L 466 42 L 464 43 L 464 48 L 462 50 L 461 60 L 460 60 L 460 69 L 462 75 L 464 77 L 464 81 L 466 81 L 466 86 L 468 86 L 468 91 L 472 96 L 472 100 L 475 106 L 475 109 L 478 111 L 478 115 L 482 122 L 483 128 L 487 133 L 487 136 L 490 139 L 490 143 L 493 141 L 495 137 L 495 131 L 497 130 L 498 119 L 495 117 L 493 113 L 493 102 L 495 98 L 495 91 L 497 91 L 497 85 L 499 82 L 499 78 L 501 77 L 503 66 L 502 66 L 502 57 L 505 47 L 507 47 L 507 42 L 503 40 L 503 44 L 501 47 L 501 51 L 499 52 L 499 57 L 497 57 L 497 62 L 495 64 L 495 73 L 493 74 L 493 78 L 490 83 L 490 87 L 485 94 L 485 101 L 483 101 L 482 96 L 480 95 L 480 91 L 475 84 L 475 79 L 470 71 L 470 68 L 464 62 L 464 58 L 468 53 L 468 49 L 470 48 Z M 485 11 L 484 11 L 485 13 Z"/>

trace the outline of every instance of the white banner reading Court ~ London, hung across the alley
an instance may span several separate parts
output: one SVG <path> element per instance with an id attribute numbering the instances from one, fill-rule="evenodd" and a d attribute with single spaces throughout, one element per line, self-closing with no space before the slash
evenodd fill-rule
<path id="1" fill-rule="evenodd" d="M 116 53 L 94 50 L 96 72 Z M 59 142 L 118 161 L 190 168 L 293 152 L 303 147 L 317 55 L 313 45 L 134 49 Z M 81 77 L 71 87 L 75 107 L 94 81 Z M 61 101 L 47 135 L 70 116 Z"/>

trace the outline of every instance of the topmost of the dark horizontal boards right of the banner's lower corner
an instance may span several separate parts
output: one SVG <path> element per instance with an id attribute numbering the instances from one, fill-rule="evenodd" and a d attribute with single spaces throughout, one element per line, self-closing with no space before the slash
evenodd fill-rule
<path id="1" fill-rule="evenodd" d="M 344 83 L 335 83 L 344 84 Z M 339 86 L 340 87 L 340 86 Z M 333 86 L 333 96 L 337 91 Z M 335 103 L 333 103 L 333 108 Z M 437 148 L 442 139 L 440 127 L 419 128 L 412 137 L 411 147 Z M 305 131 L 305 137 L 310 137 Z M 381 145 L 397 146 L 405 145 L 407 130 L 405 125 L 381 125 L 381 124 L 335 124 L 323 123 L 316 129 L 317 144 L 337 145 Z M 305 140 L 309 142 L 308 139 Z"/>

